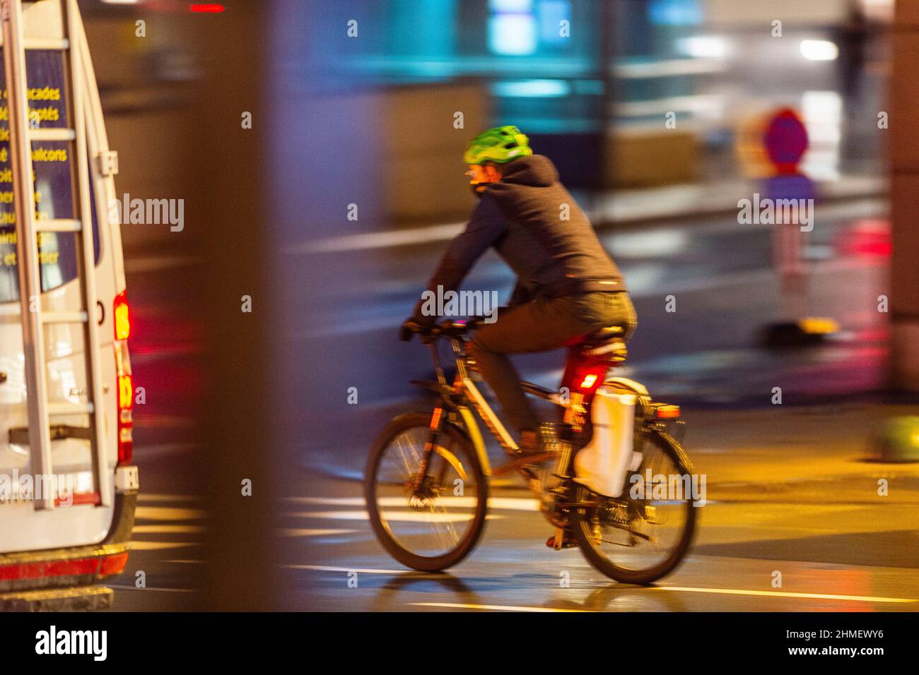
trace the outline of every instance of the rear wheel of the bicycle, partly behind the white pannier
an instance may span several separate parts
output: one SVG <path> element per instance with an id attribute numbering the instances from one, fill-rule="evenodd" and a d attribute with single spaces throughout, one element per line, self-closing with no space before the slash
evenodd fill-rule
<path id="1" fill-rule="evenodd" d="M 621 498 L 575 484 L 579 506 L 572 524 L 581 552 L 596 569 L 621 583 L 648 584 L 672 572 L 686 555 L 696 528 L 692 486 L 698 477 L 669 434 L 651 430 L 636 440 L 643 460 Z"/>

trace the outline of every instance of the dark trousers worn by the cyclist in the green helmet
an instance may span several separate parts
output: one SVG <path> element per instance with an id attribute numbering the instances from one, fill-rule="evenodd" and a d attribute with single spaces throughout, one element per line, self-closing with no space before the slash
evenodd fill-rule
<path id="1" fill-rule="evenodd" d="M 625 291 L 536 299 L 498 315 L 472 336 L 471 354 L 517 431 L 539 426 L 508 354 L 558 349 L 607 326 L 621 326 L 629 339 L 638 321 Z"/>

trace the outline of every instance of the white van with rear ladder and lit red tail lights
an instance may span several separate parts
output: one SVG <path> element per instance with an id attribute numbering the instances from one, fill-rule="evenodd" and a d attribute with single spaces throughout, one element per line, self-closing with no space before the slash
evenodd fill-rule
<path id="1" fill-rule="evenodd" d="M 76 0 L 0 16 L 0 609 L 106 606 L 138 488 L 117 156 Z"/>

